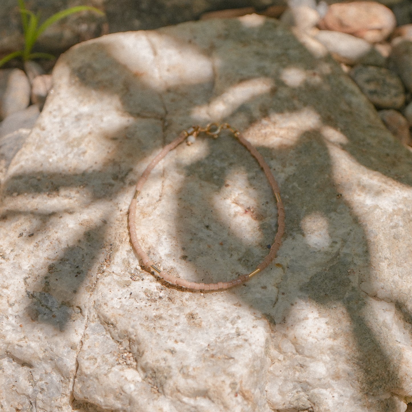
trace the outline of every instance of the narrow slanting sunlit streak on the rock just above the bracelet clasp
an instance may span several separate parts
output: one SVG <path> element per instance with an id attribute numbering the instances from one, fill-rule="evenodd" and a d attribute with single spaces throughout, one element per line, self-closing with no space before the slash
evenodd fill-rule
<path id="1" fill-rule="evenodd" d="M 228 87 L 227 90 L 213 99 L 207 105 L 197 106 L 192 111 L 192 117 L 197 120 L 219 121 L 231 115 L 240 105 L 268 93 L 273 87 L 269 77 L 258 77 Z"/>

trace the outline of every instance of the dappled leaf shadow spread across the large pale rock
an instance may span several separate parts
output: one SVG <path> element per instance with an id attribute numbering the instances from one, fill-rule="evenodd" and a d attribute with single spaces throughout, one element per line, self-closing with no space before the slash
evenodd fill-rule
<path id="1" fill-rule="evenodd" d="M 241 26 L 239 21 L 232 24 L 236 28 Z M 278 262 L 284 263 L 278 263 L 283 273 L 280 278 L 273 278 L 274 271 L 271 272 L 271 268 L 259 274 L 265 281 L 265 289 L 253 280 L 246 287 L 225 293 L 233 293 L 244 303 L 260 311 L 272 328 L 275 328 L 276 323 L 287 321 L 295 300 L 312 302 L 319 311 L 323 311 L 325 317 L 330 316 L 333 322 L 339 322 L 339 319 L 333 317 L 333 305 L 342 304 L 352 323 L 353 340 L 358 349 L 358 353 L 354 354 L 359 366 L 359 376 L 356 378 L 361 382 L 363 394 L 378 396 L 383 391 L 390 392 L 400 386 L 397 371 L 382 348 L 382 343 L 363 318 L 363 311 L 367 306 L 366 295 L 358 286 L 360 279 L 367 277 L 370 270 L 367 236 L 348 201 L 336 187 L 332 160 L 321 130 L 323 126 L 328 126 L 339 131 L 347 138 L 346 143 L 342 143 L 340 147 L 349 152 L 358 163 L 404 185 L 412 185 L 411 156 L 383 131 L 377 114 L 367 102 L 361 97 L 359 100 L 352 100 L 350 87 L 348 89 L 346 86 L 347 77 L 339 68 L 333 65 L 325 68 L 324 62 L 313 59 L 310 52 L 292 35 L 283 32 L 279 34 L 270 21 L 255 27 L 242 26 L 240 32 L 233 31 L 236 32 L 235 35 L 230 30 L 225 31 L 219 41 L 226 41 L 228 48 L 241 45 L 248 51 L 248 60 L 239 60 L 239 54 L 232 52 L 233 49 L 232 53 L 227 53 L 222 46 L 214 49 L 208 44 L 204 49 L 197 49 L 183 40 L 170 40 L 173 47 L 180 44 L 182 49 L 190 48 L 189 51 L 192 50 L 199 56 L 202 53 L 204 56 L 213 55 L 213 59 L 219 61 L 220 66 L 218 69 L 213 68 L 211 78 L 206 73 L 204 77 L 199 76 L 198 82 L 194 79 L 192 84 L 178 83 L 170 78 L 167 80 L 166 75 L 162 77 L 159 73 L 166 69 L 156 66 L 155 61 L 152 62 L 153 72 L 159 73 L 152 75 L 153 83 L 150 83 L 150 76 L 144 72 L 144 68 L 136 67 L 133 71 L 113 56 L 115 52 L 111 49 L 113 45 L 110 46 L 110 41 L 85 43 L 71 50 L 63 60 L 64 63 L 59 64 L 67 65 L 70 70 L 69 80 L 75 87 L 119 99 L 119 107 L 123 112 L 133 117 L 136 123 L 141 120 L 158 123 L 159 133 L 156 136 L 143 133 L 136 125 L 111 131 L 105 136 L 107 139 L 116 139 L 112 140 L 109 160 L 103 161 L 97 169 L 88 168 L 82 173 L 45 171 L 36 176 L 31 173 L 14 173 L 5 183 L 3 197 L 7 200 L 7 197 L 16 192 L 58 194 L 65 188 L 82 187 L 86 193 L 82 198 L 82 205 L 87 208 L 94 206 L 99 199 L 116 199 L 129 188 L 132 194 L 132 185 L 137 176 L 131 176 L 130 172 L 135 165 L 140 167 L 143 161 L 146 162 L 148 155 L 157 152 L 190 123 L 206 122 L 206 117 L 199 119 L 193 114 L 194 106 L 207 105 L 229 87 L 248 78 L 273 78 L 275 87 L 265 90 L 261 95 L 245 99 L 234 110 L 229 110 L 229 114 L 223 116 L 223 119 L 241 127 L 246 133 L 255 129 L 256 133 L 261 133 L 264 137 L 262 140 L 266 140 L 259 143 L 258 150 L 268 159 L 275 176 L 282 179 L 281 193 L 286 208 L 285 242 L 295 242 L 296 249 L 288 249 L 290 255 L 287 257 L 282 248 L 279 251 Z M 277 47 L 263 53 L 262 45 L 250 40 L 254 38 L 265 38 L 267 44 L 276 44 Z M 164 39 L 163 41 L 165 42 Z M 201 43 L 201 40 L 198 41 Z M 147 44 L 148 50 L 155 47 L 150 41 Z M 167 48 L 167 42 L 164 44 Z M 294 53 L 288 53 L 291 49 Z M 154 56 L 157 52 L 152 50 Z M 131 50 L 126 49 L 125 53 L 131 53 Z M 273 61 L 277 62 L 277 66 L 271 65 Z M 308 82 L 300 87 L 286 87 L 279 78 L 281 71 L 291 65 L 315 73 L 321 81 Z M 185 64 L 182 64 L 178 70 L 183 70 L 184 67 Z M 235 73 L 232 71 L 233 67 L 237 68 Z M 313 75 L 313 78 L 316 76 Z M 335 90 L 339 92 L 335 93 Z M 286 142 L 275 147 L 273 139 L 276 136 L 272 134 L 274 129 L 269 129 L 265 134 L 263 126 L 259 126 L 263 124 L 262 121 L 275 124 L 276 120 L 273 119 L 278 119 L 277 115 L 293 118 L 295 113 L 307 108 L 318 119 L 311 125 L 297 129 L 292 143 Z M 353 122 L 353 112 L 364 122 Z M 207 110 L 205 113 L 207 115 Z M 376 128 L 374 124 L 377 124 Z M 196 281 L 218 281 L 224 280 L 226 276 L 232 278 L 243 267 L 253 270 L 267 253 L 267 244 L 272 243 L 276 229 L 274 199 L 263 173 L 245 148 L 234 140 L 225 139 L 227 136 L 223 136 L 222 140 L 208 142 L 210 152 L 206 151 L 201 159 L 178 165 L 183 173 L 182 184 L 174 182 L 176 194 L 165 194 L 170 198 L 176 196 L 175 201 L 178 203 L 173 230 L 181 254 L 176 258 L 193 268 L 194 276 L 197 276 L 193 280 Z M 250 225 L 256 228 L 255 237 L 258 241 L 253 240 L 253 236 L 250 237 L 249 234 L 241 236 L 236 232 L 239 228 L 230 226 L 231 217 L 225 218 L 220 213 L 225 207 L 219 209 L 213 198 L 215 192 L 225 197 L 226 189 L 227 196 L 231 195 L 232 188 L 236 190 L 236 179 L 233 178 L 236 173 L 246 176 L 245 187 L 250 191 L 246 198 L 234 198 L 235 202 L 232 203 L 237 204 L 231 210 L 251 219 Z M 167 179 L 167 173 L 165 176 Z M 251 203 L 252 194 L 258 199 L 255 204 Z M 5 210 L 3 213 L 7 216 L 8 212 Z M 20 211 L 13 208 L 9 213 L 11 216 L 16 213 L 29 215 L 32 212 L 24 208 Z M 117 213 L 115 208 L 108 207 L 102 215 L 103 220 L 107 223 Z M 325 247 L 315 247 L 305 239 L 307 234 L 302 229 L 302 221 L 315 214 L 327 222 L 330 242 Z M 44 229 L 48 218 L 46 214 L 42 222 Z M 201 230 L 197 226 L 191 227 L 188 224 L 191 218 L 202 219 L 204 227 Z M 81 236 L 61 248 L 61 254 L 58 258 L 53 258 L 47 269 L 41 269 L 41 279 L 29 291 L 32 303 L 27 308 L 27 313 L 33 321 L 65 330 L 73 313 L 76 313 L 71 304 L 73 296 L 95 274 L 91 271 L 95 270 L 96 262 L 105 260 L 101 257 L 101 249 L 108 238 L 105 222 L 89 224 L 82 230 Z M 37 231 L 42 229 L 43 227 L 39 227 Z M 223 237 L 225 241 L 220 241 Z M 359 249 L 353 250 L 350 242 Z M 250 243 L 253 243 L 252 247 Z M 236 262 L 232 266 L 233 257 Z M 223 273 L 222 262 L 227 268 Z M 313 266 L 307 268 L 307 262 L 312 262 Z M 163 263 L 167 268 L 168 262 Z M 272 265 L 272 269 L 274 267 Z M 349 273 L 355 273 L 356 276 L 349 276 Z M 287 286 L 289 282 L 295 286 Z M 257 290 L 264 294 L 264 298 L 256 298 Z M 278 292 L 283 290 L 287 294 L 279 297 Z M 411 315 L 403 302 L 397 302 L 397 307 L 401 309 L 405 321 L 410 323 Z M 377 410 L 395 410 L 396 405 L 391 402 L 390 399 L 382 401 Z"/>

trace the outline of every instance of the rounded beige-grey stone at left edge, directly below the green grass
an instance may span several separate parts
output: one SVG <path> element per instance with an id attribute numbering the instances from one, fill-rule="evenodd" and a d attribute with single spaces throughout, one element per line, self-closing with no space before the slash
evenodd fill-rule
<path id="1" fill-rule="evenodd" d="M 0 119 L 24 110 L 30 103 L 30 83 L 20 69 L 0 70 Z"/>

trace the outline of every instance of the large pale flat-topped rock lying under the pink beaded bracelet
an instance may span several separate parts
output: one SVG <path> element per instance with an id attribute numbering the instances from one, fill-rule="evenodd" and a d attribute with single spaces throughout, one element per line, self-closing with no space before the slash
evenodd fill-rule
<path id="1" fill-rule="evenodd" d="M 101 37 L 53 75 L 2 182 L 5 410 L 405 411 L 412 154 L 335 61 L 246 16 Z M 286 235 L 245 286 L 202 295 L 138 266 L 126 212 L 150 159 L 210 121 L 272 167 Z M 248 273 L 276 231 L 230 136 L 171 152 L 139 211 L 150 257 L 198 281 Z"/>

